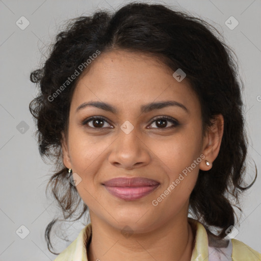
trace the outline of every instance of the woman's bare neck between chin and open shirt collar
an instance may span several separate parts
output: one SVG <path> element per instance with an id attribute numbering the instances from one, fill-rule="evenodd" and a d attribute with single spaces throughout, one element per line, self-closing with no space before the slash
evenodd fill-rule
<path id="1" fill-rule="evenodd" d="M 146 233 L 134 232 L 129 237 L 123 237 L 121 230 L 108 223 L 94 219 L 87 257 L 88 261 L 190 261 L 194 238 L 188 219 L 165 223 Z"/>

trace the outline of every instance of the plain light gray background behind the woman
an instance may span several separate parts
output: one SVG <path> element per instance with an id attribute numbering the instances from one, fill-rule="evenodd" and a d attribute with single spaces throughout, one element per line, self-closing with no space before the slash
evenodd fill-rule
<path id="1" fill-rule="evenodd" d="M 29 112 L 29 102 L 36 95 L 30 82 L 30 72 L 41 61 L 41 51 L 54 40 L 59 25 L 68 18 L 90 14 L 97 8 L 117 9 L 122 1 L 7 1 L 0 0 L 0 260 L 53 260 L 44 240 L 44 229 L 58 211 L 53 198 L 46 198 L 45 187 L 53 173 L 39 155 L 35 126 Z M 152 3 L 152 2 L 150 2 Z M 191 11 L 213 24 L 223 33 L 226 42 L 236 51 L 240 73 L 245 84 L 244 102 L 247 131 L 250 139 L 249 156 L 261 172 L 260 139 L 260 11 L 261 1 L 165 1 L 181 10 Z M 21 30 L 16 21 L 26 17 L 30 24 Z M 234 16 L 239 25 L 230 30 L 225 21 Z M 24 24 L 24 23 L 23 23 Z M 233 24 L 233 23 L 232 23 Z M 40 51 L 40 50 L 41 51 Z M 23 129 L 24 127 L 24 129 Z M 29 127 L 29 129 L 27 129 Z M 253 164 L 249 165 L 247 181 L 253 178 Z M 236 239 L 261 252 L 261 177 L 246 193 L 243 201 L 244 214 L 237 225 Z M 87 219 L 68 227 L 68 240 L 74 240 Z M 24 239 L 17 229 L 24 225 L 29 234 Z M 70 226 L 70 227 L 69 227 Z M 23 233 L 26 228 L 22 227 Z M 21 233 L 20 233 L 21 234 Z M 25 234 L 24 234 L 25 236 Z M 62 251 L 70 242 L 59 238 L 55 250 Z"/>

